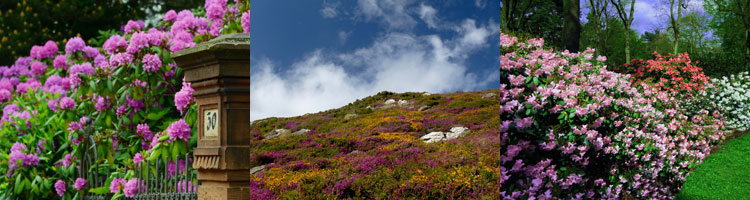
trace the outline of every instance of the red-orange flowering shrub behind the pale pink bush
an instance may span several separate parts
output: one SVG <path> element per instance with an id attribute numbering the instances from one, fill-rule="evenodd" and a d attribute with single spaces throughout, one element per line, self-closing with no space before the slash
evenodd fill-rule
<path id="1" fill-rule="evenodd" d="M 703 74 L 703 69 L 693 65 L 687 53 L 662 56 L 657 52 L 655 60 L 643 61 L 633 59 L 630 63 L 616 68 L 616 72 L 632 74 L 633 85 L 645 82 L 662 91 L 674 95 L 694 96 L 705 90 L 709 78 Z"/>

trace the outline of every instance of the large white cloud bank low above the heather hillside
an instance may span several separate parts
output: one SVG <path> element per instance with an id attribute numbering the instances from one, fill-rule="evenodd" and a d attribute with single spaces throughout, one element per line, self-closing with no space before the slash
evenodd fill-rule
<path id="1" fill-rule="evenodd" d="M 488 37 L 499 32 L 493 24 L 464 20 L 449 39 L 390 32 L 352 52 L 316 50 L 287 71 L 261 59 L 251 76 L 251 120 L 337 108 L 384 90 L 443 93 L 490 86 L 499 81 L 499 71 L 470 73 L 464 60 L 488 46 Z"/>

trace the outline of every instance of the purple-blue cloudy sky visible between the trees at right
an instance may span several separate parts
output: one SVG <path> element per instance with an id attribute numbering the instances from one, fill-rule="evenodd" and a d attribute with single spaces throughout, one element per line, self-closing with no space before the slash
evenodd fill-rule
<path id="1" fill-rule="evenodd" d="M 677 4 L 675 0 L 675 4 Z M 705 15 L 706 11 L 703 8 L 703 0 L 686 0 L 688 7 L 687 10 L 683 9 L 682 16 L 687 15 L 689 12 L 698 12 L 700 15 Z M 586 15 L 589 12 L 589 1 L 581 0 L 581 23 L 587 21 Z M 625 7 L 630 12 L 630 6 Z M 612 16 L 617 16 L 617 12 L 614 7 L 610 9 Z M 675 12 L 677 7 L 675 6 Z M 631 28 L 636 30 L 641 35 L 645 32 L 653 32 L 655 29 L 664 30 L 669 24 L 669 0 L 636 0 L 635 10 L 633 10 L 633 24 Z"/>

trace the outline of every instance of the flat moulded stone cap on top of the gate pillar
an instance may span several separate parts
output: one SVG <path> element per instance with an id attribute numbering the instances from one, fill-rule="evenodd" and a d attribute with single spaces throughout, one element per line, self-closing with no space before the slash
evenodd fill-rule
<path id="1" fill-rule="evenodd" d="M 191 54 L 203 52 L 203 51 L 216 51 L 216 50 L 250 50 L 250 34 L 246 33 L 232 33 L 222 35 L 217 38 L 211 39 L 207 42 L 202 42 L 195 47 L 187 48 L 182 51 L 175 52 L 172 58 L 179 58 L 188 56 Z M 248 55 L 250 56 L 250 55 Z"/>

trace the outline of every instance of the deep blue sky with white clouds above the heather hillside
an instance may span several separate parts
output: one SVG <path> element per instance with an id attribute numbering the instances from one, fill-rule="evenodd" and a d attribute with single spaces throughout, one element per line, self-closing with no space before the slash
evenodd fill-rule
<path id="1" fill-rule="evenodd" d="M 252 1 L 251 118 L 497 88 L 499 1 Z"/>

